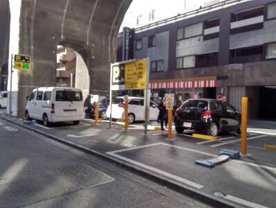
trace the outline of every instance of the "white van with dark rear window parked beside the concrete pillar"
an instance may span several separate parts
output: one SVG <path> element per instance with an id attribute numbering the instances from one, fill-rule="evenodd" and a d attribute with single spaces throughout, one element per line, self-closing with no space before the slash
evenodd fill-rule
<path id="1" fill-rule="evenodd" d="M 39 87 L 27 97 L 26 120 L 37 119 L 44 125 L 60 121 L 84 119 L 82 90 L 71 87 Z"/>

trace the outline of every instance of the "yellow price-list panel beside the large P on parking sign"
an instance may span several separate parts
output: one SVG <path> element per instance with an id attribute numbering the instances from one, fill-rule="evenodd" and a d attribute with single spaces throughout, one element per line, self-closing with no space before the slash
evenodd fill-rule
<path id="1" fill-rule="evenodd" d="M 146 89 L 147 59 L 125 64 L 125 89 Z"/>

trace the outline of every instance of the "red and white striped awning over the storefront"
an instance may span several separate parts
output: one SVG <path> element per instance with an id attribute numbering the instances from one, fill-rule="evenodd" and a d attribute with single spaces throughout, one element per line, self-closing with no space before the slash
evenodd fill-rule
<path id="1" fill-rule="evenodd" d="M 185 89 L 217 87 L 217 77 L 150 80 L 149 89 Z"/>

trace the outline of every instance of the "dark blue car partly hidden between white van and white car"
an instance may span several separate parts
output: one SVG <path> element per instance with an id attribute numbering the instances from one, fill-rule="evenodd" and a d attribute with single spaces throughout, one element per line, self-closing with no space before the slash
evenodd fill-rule
<path id="1" fill-rule="evenodd" d="M 108 96 L 99 96 L 99 116 L 107 119 L 107 107 L 109 106 Z M 89 94 L 84 101 L 85 115 L 91 118 L 95 117 L 95 98 Z"/>

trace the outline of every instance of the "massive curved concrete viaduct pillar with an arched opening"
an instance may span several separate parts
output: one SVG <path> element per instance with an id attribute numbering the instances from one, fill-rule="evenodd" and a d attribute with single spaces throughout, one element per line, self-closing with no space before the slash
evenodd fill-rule
<path id="1" fill-rule="evenodd" d="M 36 86 L 56 85 L 58 44 L 80 53 L 89 69 L 92 93 L 109 90 L 116 37 L 131 0 L 21 0 L 12 4 L 10 53 L 31 56 L 30 71 L 13 73 L 14 115 L 23 116 L 26 96 Z M 100 72 L 100 73 L 99 73 Z"/>

